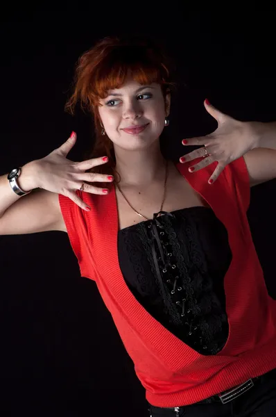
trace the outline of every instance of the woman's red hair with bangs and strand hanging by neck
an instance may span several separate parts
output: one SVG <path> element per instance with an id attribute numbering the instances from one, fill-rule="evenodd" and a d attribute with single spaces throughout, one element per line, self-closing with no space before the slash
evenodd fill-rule
<path id="1" fill-rule="evenodd" d="M 96 172 L 110 174 L 116 165 L 112 141 L 107 135 L 101 135 L 99 99 L 107 97 L 108 90 L 120 88 L 128 74 L 141 85 L 158 83 L 165 98 L 174 85 L 170 80 L 167 61 L 161 49 L 152 41 L 141 38 L 104 38 L 80 56 L 74 92 L 65 108 L 74 114 L 79 101 L 82 110 L 88 110 L 94 116 L 96 142 L 90 157 L 107 155 L 109 158 L 109 163 L 96 167 Z"/>

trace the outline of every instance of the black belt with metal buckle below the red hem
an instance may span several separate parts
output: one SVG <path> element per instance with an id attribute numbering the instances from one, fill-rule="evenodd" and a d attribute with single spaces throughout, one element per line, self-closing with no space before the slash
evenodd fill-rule
<path id="1" fill-rule="evenodd" d="M 220 394 L 212 395 L 212 397 L 206 398 L 205 400 L 198 401 L 194 404 L 211 404 L 212 402 L 221 402 L 222 404 L 227 404 L 227 402 L 230 402 L 234 400 L 235 398 L 239 397 L 240 395 L 243 395 L 246 391 L 250 390 L 253 386 L 257 386 L 263 382 L 266 377 L 270 377 L 273 374 L 273 378 L 276 378 L 276 368 L 273 370 L 270 370 L 268 373 L 261 375 L 259 377 L 250 378 L 248 381 L 243 382 L 243 384 L 235 386 L 234 388 L 223 391 Z M 193 405 L 193 404 L 192 404 Z M 154 407 L 151 406 L 153 409 L 157 408 L 160 409 L 160 407 Z M 186 406 L 183 406 L 186 407 Z M 166 407 L 162 408 L 162 410 L 173 410 L 175 411 L 175 415 L 179 416 L 180 409 L 182 407 Z M 150 411 L 150 409 L 149 409 Z"/>

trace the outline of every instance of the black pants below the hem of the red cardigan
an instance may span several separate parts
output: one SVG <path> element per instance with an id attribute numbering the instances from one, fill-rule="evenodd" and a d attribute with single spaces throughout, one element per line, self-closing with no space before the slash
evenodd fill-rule
<path id="1" fill-rule="evenodd" d="M 276 369 L 262 375 L 258 384 L 227 404 L 185 405 L 178 414 L 174 409 L 148 408 L 148 416 L 152 417 L 276 417 Z"/>

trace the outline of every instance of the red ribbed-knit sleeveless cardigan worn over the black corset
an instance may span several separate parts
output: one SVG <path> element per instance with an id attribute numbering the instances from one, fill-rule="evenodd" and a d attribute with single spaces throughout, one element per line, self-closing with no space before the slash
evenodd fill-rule
<path id="1" fill-rule="evenodd" d="M 199 159 L 198 159 L 199 161 Z M 157 407 L 193 404 L 276 368 L 276 301 L 269 295 L 246 211 L 250 202 L 243 158 L 225 167 L 214 184 L 217 163 L 190 173 L 176 166 L 225 225 L 232 262 L 224 279 L 229 336 L 223 350 L 204 356 L 171 334 L 128 289 L 117 252 L 118 213 L 114 186 L 107 196 L 77 193 L 92 207 L 83 211 L 60 195 L 60 207 L 83 277 L 96 281 L 112 314 L 146 399 Z M 166 205 L 166 204 L 165 204 Z"/>

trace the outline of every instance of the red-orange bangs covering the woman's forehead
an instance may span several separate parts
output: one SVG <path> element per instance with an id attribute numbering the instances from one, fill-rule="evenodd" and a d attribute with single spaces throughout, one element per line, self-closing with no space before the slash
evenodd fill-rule
<path id="1" fill-rule="evenodd" d="M 153 50 L 137 46 L 117 47 L 96 68 L 91 85 L 94 98 L 104 99 L 108 90 L 121 88 L 128 76 L 141 85 L 166 85 L 169 70 L 160 59 L 158 62 Z"/>

